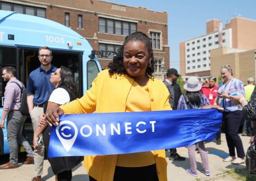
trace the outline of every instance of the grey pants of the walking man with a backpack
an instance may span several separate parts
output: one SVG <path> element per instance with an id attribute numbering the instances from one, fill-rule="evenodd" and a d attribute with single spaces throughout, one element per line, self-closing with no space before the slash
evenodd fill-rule
<path id="1" fill-rule="evenodd" d="M 7 140 L 10 147 L 10 163 L 18 164 L 19 144 L 25 148 L 28 157 L 33 157 L 34 153 L 26 138 L 22 135 L 26 116 L 20 112 L 9 112 L 7 117 Z M 18 144 L 19 143 L 19 144 Z"/>

